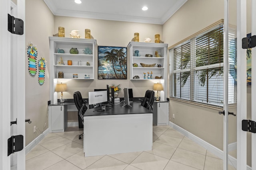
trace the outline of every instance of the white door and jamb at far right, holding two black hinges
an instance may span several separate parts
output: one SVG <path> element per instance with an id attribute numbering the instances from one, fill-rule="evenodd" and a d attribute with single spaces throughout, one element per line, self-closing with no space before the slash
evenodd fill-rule
<path id="1" fill-rule="evenodd" d="M 256 133 L 242 131 L 242 120 L 250 119 L 256 121 L 256 47 L 251 49 L 251 114 L 247 113 L 247 92 L 246 79 L 247 72 L 247 49 L 242 49 L 242 38 L 246 37 L 248 33 L 256 35 L 256 1 L 243 1 L 237 0 L 237 55 L 238 55 L 238 117 L 237 117 L 237 169 L 246 170 L 249 169 L 247 162 L 251 162 L 252 170 L 256 170 Z M 248 11 L 251 11 L 251 16 Z M 247 13 L 247 14 L 246 14 Z M 251 19 L 250 19 L 251 18 Z M 251 27 L 250 27 L 251 25 Z M 247 27 L 249 26 L 249 27 Z M 251 30 L 248 32 L 248 30 Z M 240 57 L 241 56 L 241 57 Z M 247 57 L 248 58 L 248 57 Z M 252 137 L 251 141 L 247 141 L 248 136 Z M 250 145 L 251 143 L 251 145 Z M 248 148 L 251 147 L 251 155 Z M 249 153 L 247 153 L 249 151 Z"/>

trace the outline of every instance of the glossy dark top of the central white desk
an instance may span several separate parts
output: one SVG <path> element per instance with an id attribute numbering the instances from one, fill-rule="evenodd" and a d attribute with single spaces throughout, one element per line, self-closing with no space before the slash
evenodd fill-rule
<path id="1" fill-rule="evenodd" d="M 138 114 L 138 113 L 153 113 L 152 111 L 146 109 L 141 106 L 139 102 L 131 102 L 130 106 L 122 106 L 121 104 L 117 104 L 112 107 L 106 106 L 105 111 L 94 112 L 94 110 L 100 109 L 100 107 L 94 109 L 88 109 L 84 113 L 84 116 L 96 116 L 96 115 L 120 115 L 120 114 Z"/>

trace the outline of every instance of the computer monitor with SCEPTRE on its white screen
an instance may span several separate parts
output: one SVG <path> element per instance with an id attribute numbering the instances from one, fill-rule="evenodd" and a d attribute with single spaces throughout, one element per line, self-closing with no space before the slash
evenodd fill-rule
<path id="1" fill-rule="evenodd" d="M 104 102 L 108 102 L 107 90 L 88 92 L 89 109 L 100 107 Z"/>

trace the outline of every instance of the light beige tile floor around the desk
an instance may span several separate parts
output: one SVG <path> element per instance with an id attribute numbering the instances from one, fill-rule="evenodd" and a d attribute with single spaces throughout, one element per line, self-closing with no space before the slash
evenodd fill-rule
<path id="1" fill-rule="evenodd" d="M 48 134 L 26 154 L 26 170 L 222 170 L 223 161 L 170 126 L 153 126 L 152 150 L 84 157 L 76 127 Z M 228 167 L 235 170 L 234 167 Z"/>

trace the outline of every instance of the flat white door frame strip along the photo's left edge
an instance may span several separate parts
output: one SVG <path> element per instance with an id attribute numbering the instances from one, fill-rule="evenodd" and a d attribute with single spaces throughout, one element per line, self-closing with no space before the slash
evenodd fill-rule
<path id="1" fill-rule="evenodd" d="M 8 0 L 0 1 L 0 17 L 2 23 L 8 23 Z M 6 74 L 10 66 L 10 39 L 6 24 L 0 26 L 0 169 L 10 169 L 10 156 L 7 156 L 7 139 L 10 138 L 10 75 Z"/>

